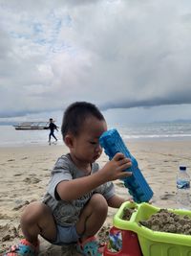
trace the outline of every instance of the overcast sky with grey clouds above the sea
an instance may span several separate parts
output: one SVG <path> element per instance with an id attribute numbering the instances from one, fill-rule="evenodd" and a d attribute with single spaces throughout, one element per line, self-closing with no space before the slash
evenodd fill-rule
<path id="1" fill-rule="evenodd" d="M 191 119 L 191 1 L 0 0 L 0 122 Z"/>

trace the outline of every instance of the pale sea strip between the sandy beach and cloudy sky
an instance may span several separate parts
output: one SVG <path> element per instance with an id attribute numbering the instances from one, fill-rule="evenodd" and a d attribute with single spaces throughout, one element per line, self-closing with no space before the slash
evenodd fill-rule
<path id="1" fill-rule="evenodd" d="M 125 142 L 148 140 L 191 140 L 190 122 L 163 122 L 146 124 L 109 124 L 117 128 Z M 0 126 L 0 147 L 48 145 L 49 130 L 16 130 L 12 126 Z M 60 129 L 55 130 L 57 145 L 62 145 Z"/>

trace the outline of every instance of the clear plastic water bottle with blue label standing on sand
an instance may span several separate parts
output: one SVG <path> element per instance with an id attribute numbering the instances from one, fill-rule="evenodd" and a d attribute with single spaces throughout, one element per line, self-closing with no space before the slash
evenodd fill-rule
<path id="1" fill-rule="evenodd" d="M 177 202 L 178 208 L 190 210 L 190 176 L 183 165 L 180 165 L 177 175 Z"/>

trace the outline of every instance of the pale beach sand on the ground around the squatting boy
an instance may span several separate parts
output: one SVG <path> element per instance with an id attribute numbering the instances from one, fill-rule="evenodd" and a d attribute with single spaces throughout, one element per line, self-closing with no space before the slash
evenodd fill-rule
<path id="1" fill-rule="evenodd" d="M 176 174 L 180 164 L 191 170 L 191 141 L 134 141 L 128 143 L 128 149 L 154 191 L 152 203 L 161 208 L 178 208 Z M 54 162 L 67 151 L 64 145 L 0 148 L 0 255 L 20 240 L 23 209 L 31 201 L 41 200 Z M 98 162 L 103 165 L 107 160 L 103 153 Z M 117 195 L 130 198 L 122 181 L 115 181 L 115 185 Z M 112 226 L 116 211 L 109 209 L 106 227 Z M 40 255 L 74 255 L 72 249 L 49 244 L 42 238 L 40 244 Z"/>

